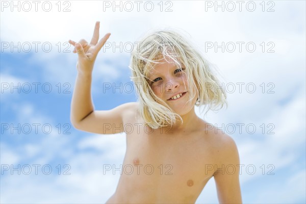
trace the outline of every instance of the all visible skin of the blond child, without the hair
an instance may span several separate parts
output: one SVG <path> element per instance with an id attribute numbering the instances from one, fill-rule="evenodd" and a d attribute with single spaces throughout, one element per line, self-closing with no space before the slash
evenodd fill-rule
<path id="1" fill-rule="evenodd" d="M 72 125 L 97 134 L 116 134 L 129 126 L 129 131 L 125 131 L 122 174 L 116 192 L 106 203 L 194 203 L 212 177 L 220 203 L 242 203 L 235 141 L 220 131 L 206 129 L 210 124 L 197 117 L 194 111 L 196 96 L 191 105 L 187 104 L 189 86 L 184 73 L 177 70 L 174 63 L 162 60 L 163 64 L 155 67 L 149 79 L 154 81 L 151 84 L 154 93 L 182 117 L 183 123 L 152 130 L 142 125 L 145 122 L 137 111 L 138 103 L 122 104 L 112 110 L 94 110 L 91 73 L 96 55 L 109 36 L 106 34 L 98 42 L 99 22 L 96 22 L 90 43 L 83 39 L 79 43 L 69 40 L 79 56 L 71 101 Z M 175 93 L 186 91 L 182 98 L 168 100 Z M 228 165 L 236 169 L 224 168 Z"/>

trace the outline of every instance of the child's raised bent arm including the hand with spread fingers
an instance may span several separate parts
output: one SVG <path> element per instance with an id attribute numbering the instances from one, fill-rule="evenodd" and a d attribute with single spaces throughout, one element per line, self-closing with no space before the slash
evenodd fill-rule
<path id="1" fill-rule="evenodd" d="M 98 134 L 115 134 L 123 132 L 124 112 L 134 106 L 134 103 L 120 105 L 108 111 L 94 111 L 91 100 L 92 69 L 99 50 L 103 47 L 110 34 L 106 34 L 99 42 L 99 22 L 96 22 L 94 34 L 90 43 L 80 40 L 76 43 L 69 40 L 78 53 L 78 75 L 71 101 L 71 124 L 79 130 Z M 121 127 L 121 128 L 114 128 Z"/>

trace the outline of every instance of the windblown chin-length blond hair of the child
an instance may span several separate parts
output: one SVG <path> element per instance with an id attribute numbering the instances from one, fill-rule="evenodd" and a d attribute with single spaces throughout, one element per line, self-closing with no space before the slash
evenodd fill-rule
<path id="1" fill-rule="evenodd" d="M 219 110 L 223 105 L 227 107 L 226 93 L 220 88 L 220 83 L 213 73 L 212 64 L 202 57 L 195 46 L 173 29 L 153 31 L 136 44 L 129 66 L 132 70 L 131 80 L 139 94 L 140 115 L 152 129 L 172 126 L 178 119 L 182 121 L 181 116 L 174 113 L 150 87 L 148 74 L 161 59 L 172 60 L 186 73 L 187 82 L 191 85 L 189 103 L 197 94 L 198 98 L 194 105 L 204 106 L 203 110 L 206 108 Z M 215 89 L 213 91 L 212 85 Z"/>

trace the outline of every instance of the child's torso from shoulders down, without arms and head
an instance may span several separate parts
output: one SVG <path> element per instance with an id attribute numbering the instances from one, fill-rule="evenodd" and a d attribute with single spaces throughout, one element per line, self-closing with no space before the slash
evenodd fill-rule
<path id="1" fill-rule="evenodd" d="M 122 174 L 107 203 L 194 203 L 214 174 L 208 166 L 217 164 L 217 138 L 205 131 L 205 123 L 166 133 L 144 126 L 137 109 L 127 114 Z"/>

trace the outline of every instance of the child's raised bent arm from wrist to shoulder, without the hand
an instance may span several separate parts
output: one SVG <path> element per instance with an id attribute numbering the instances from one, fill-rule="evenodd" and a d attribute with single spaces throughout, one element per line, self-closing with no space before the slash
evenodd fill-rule
<path id="1" fill-rule="evenodd" d="M 91 99 L 91 75 L 78 73 L 72 95 L 70 120 L 75 129 L 97 133 L 123 132 L 123 117 L 135 103 L 122 104 L 112 110 L 95 111 Z"/>

